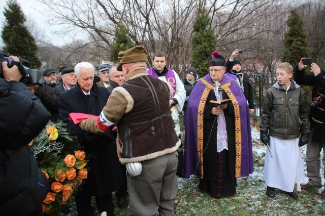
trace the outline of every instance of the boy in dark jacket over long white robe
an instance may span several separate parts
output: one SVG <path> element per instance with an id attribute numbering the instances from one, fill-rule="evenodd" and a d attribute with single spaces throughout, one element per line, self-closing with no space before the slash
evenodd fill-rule
<path id="1" fill-rule="evenodd" d="M 309 109 L 304 90 L 290 80 L 292 76 L 293 67 L 289 63 L 278 65 L 278 81 L 267 90 L 263 104 L 261 141 L 270 146 L 265 155 L 264 180 L 266 195 L 271 198 L 275 196 L 275 188 L 298 198 L 295 183 L 301 191 L 299 182 L 305 177 L 299 147 L 309 139 Z"/>

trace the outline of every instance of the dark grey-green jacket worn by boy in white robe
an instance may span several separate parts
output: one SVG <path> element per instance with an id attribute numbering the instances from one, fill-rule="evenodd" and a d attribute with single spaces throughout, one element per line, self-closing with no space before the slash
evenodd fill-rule
<path id="1" fill-rule="evenodd" d="M 300 132 L 310 133 L 308 114 L 304 90 L 294 80 L 288 91 L 276 82 L 264 99 L 261 131 L 284 140 L 298 138 Z"/>

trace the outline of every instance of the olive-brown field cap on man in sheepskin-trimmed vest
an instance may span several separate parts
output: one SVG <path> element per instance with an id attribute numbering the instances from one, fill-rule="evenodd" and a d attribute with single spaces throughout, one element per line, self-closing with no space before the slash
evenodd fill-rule
<path id="1" fill-rule="evenodd" d="M 122 64 L 147 62 L 147 50 L 143 46 L 137 46 L 126 51 L 120 51 L 118 53 L 118 59 L 120 62 L 117 66 L 117 70 L 122 71 Z"/>

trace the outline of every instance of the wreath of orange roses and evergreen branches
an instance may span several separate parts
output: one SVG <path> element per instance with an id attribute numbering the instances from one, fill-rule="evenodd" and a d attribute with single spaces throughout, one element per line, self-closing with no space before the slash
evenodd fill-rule
<path id="1" fill-rule="evenodd" d="M 39 167 L 49 180 L 50 191 L 42 203 L 43 212 L 58 215 L 64 204 L 80 190 L 87 179 L 88 158 L 78 138 L 71 135 L 67 124 L 50 122 L 30 143 Z"/>

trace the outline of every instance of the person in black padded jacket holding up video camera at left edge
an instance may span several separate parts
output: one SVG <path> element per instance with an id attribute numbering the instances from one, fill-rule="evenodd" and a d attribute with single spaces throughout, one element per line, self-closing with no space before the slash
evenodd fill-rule
<path id="1" fill-rule="evenodd" d="M 9 58 L 18 62 L 17 57 Z M 0 78 L 0 212 L 2 215 L 43 215 L 49 183 L 28 143 L 50 118 L 41 101 L 23 82 L 16 65 L 2 62 Z"/>

